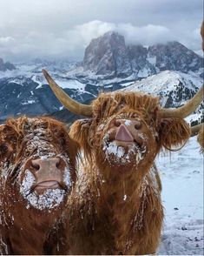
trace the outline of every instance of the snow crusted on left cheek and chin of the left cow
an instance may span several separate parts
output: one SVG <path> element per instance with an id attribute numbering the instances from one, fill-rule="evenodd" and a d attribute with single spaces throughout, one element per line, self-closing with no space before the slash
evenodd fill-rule
<path id="1" fill-rule="evenodd" d="M 39 210 L 52 209 L 63 202 L 65 191 L 61 189 L 47 189 L 41 195 L 36 194 L 36 192 L 31 192 L 30 189 L 32 185 L 35 184 L 35 180 L 34 175 L 29 170 L 26 170 L 20 192 L 23 198 L 28 201 L 27 208 L 32 205 Z"/>

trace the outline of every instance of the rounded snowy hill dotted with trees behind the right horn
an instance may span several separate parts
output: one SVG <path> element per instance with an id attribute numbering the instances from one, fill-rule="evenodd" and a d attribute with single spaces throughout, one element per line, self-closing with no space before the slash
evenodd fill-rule
<path id="1" fill-rule="evenodd" d="M 186 74 L 181 71 L 161 71 L 157 75 L 136 81 L 124 91 L 141 91 L 158 96 L 163 107 L 179 107 L 201 88 L 203 79 L 194 74 Z M 203 104 L 187 118 L 187 121 L 203 119 Z"/>

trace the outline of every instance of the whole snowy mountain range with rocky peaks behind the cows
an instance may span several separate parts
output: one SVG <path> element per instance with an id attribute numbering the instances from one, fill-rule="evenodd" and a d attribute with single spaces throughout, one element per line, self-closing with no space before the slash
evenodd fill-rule
<path id="1" fill-rule="evenodd" d="M 0 119 L 63 109 L 42 69 L 80 102 L 89 102 L 100 91 L 122 90 L 134 84 L 127 90 L 145 89 L 158 95 L 165 107 L 176 107 L 201 86 L 202 61 L 178 42 L 149 47 L 126 45 L 124 37 L 108 32 L 90 42 L 82 62 L 35 59 L 0 71 Z"/>

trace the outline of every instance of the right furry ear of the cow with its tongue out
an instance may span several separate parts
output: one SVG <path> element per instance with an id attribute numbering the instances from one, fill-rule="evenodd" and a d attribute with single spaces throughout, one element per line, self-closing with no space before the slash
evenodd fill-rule
<path id="1" fill-rule="evenodd" d="M 159 138 L 161 146 L 168 150 L 179 147 L 190 138 L 191 131 L 189 125 L 181 118 L 161 119 Z"/>

